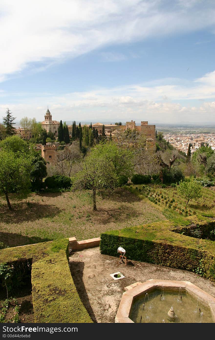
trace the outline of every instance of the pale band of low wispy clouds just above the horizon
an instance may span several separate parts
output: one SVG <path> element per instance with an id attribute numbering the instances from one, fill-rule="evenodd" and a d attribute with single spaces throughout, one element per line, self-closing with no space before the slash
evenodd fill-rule
<path id="1" fill-rule="evenodd" d="M 2 116 L 10 107 L 18 119 L 23 116 L 43 120 L 47 104 L 56 120 L 149 120 L 163 122 L 214 121 L 215 71 L 190 82 L 179 79 L 168 85 L 169 78 L 148 84 L 132 84 L 113 88 L 100 88 L 85 92 L 71 92 L 62 96 L 41 94 L 18 97 L 16 103 L 0 105 Z M 158 85 L 159 84 L 159 85 Z M 162 85 L 160 85 L 162 84 Z M 21 94 L 20 94 L 21 95 Z M 3 94 L 2 94 L 3 96 Z M 14 98 L 14 96 L 13 96 Z M 201 102 L 200 102 L 201 99 Z M 183 102 L 183 104 L 182 104 Z M 38 103 L 40 106 L 38 107 Z"/>

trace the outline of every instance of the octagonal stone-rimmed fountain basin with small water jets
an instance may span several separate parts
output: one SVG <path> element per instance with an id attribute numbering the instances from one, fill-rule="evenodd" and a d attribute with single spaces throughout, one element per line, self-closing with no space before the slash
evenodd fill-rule
<path id="1" fill-rule="evenodd" d="M 189 281 L 151 279 L 126 288 L 117 323 L 215 322 L 215 298 Z"/>

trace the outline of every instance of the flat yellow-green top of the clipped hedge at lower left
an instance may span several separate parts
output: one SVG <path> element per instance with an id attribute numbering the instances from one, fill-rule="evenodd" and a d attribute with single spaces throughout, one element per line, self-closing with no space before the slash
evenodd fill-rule
<path id="1" fill-rule="evenodd" d="M 0 263 L 29 259 L 35 322 L 92 323 L 70 273 L 68 239 L 0 250 Z"/>

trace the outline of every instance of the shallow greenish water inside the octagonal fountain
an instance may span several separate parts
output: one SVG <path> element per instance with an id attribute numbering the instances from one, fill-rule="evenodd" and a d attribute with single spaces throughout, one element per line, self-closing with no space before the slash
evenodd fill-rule
<path id="1" fill-rule="evenodd" d="M 164 293 L 165 300 L 161 300 L 160 289 L 154 289 L 147 294 L 135 298 L 129 318 L 138 323 L 214 322 L 210 307 L 199 300 L 197 303 L 197 299 L 186 290 L 180 289 L 180 292 L 178 293 L 176 290 L 164 289 Z M 182 303 L 178 303 L 181 301 L 181 295 L 183 296 Z M 198 306 L 198 312 L 196 312 L 196 305 Z M 170 306 L 173 307 L 173 312 L 175 312 L 175 319 L 168 315 Z"/>

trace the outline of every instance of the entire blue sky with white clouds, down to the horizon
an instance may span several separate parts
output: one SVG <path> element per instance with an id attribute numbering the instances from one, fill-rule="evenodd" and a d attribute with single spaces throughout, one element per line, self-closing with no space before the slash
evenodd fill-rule
<path id="1" fill-rule="evenodd" d="M 2 0 L 0 120 L 215 123 L 214 0 Z"/>

